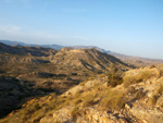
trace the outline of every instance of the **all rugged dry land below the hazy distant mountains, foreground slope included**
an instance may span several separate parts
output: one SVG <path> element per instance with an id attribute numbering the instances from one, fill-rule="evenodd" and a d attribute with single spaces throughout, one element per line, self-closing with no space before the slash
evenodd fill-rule
<path id="1" fill-rule="evenodd" d="M 163 66 L 148 62 L 0 44 L 0 123 L 162 123 Z"/>

